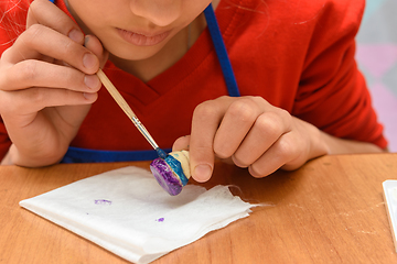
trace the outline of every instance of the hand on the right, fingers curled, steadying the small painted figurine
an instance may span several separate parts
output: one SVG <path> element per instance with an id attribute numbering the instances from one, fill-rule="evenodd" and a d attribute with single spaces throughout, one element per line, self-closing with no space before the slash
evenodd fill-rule
<path id="1" fill-rule="evenodd" d="M 254 177 L 296 169 L 328 153 L 322 132 L 261 97 L 221 97 L 196 107 L 192 133 L 173 150 L 190 150 L 192 177 L 211 178 L 215 156 L 248 167 Z"/>

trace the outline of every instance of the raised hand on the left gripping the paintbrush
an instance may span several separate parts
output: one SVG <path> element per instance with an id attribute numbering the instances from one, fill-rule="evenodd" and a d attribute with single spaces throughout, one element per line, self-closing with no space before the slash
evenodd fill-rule
<path id="1" fill-rule="evenodd" d="M 12 145 L 8 164 L 58 162 L 97 99 L 106 53 L 49 0 L 31 3 L 26 31 L 0 59 L 0 114 Z"/>

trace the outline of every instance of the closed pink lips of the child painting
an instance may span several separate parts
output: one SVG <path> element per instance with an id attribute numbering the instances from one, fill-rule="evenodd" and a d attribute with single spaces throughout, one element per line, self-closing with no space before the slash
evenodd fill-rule
<path id="1" fill-rule="evenodd" d="M 157 44 L 161 43 L 163 40 L 165 40 L 170 34 L 170 31 L 150 35 L 150 34 L 136 33 L 136 32 L 120 30 L 120 29 L 118 29 L 118 32 L 125 41 L 127 41 L 136 46 L 157 45 Z"/>

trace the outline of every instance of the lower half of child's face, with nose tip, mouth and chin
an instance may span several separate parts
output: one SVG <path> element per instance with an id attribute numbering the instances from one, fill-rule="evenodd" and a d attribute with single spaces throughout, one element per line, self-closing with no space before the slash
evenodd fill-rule
<path id="1" fill-rule="evenodd" d="M 125 59 L 158 53 L 210 4 L 211 0 L 65 0 L 86 33 Z"/>

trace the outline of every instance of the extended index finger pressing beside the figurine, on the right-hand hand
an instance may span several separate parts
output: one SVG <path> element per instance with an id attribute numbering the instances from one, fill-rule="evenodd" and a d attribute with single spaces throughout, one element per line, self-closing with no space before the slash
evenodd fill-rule
<path id="1" fill-rule="evenodd" d="M 221 100 L 218 99 L 205 101 L 198 105 L 193 113 L 190 162 L 192 177 L 200 183 L 211 178 L 214 167 L 214 136 L 222 117 L 229 105 L 219 102 Z"/>

